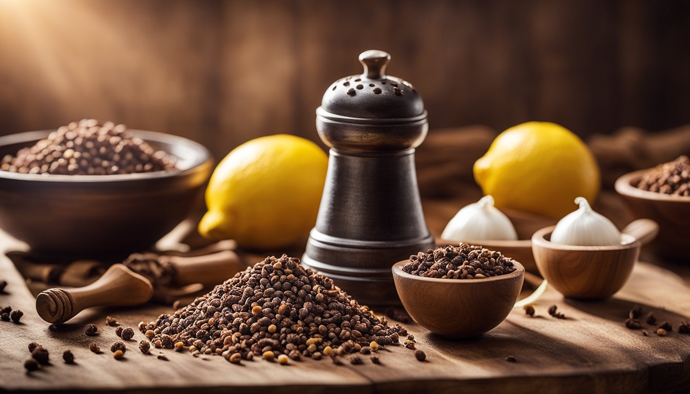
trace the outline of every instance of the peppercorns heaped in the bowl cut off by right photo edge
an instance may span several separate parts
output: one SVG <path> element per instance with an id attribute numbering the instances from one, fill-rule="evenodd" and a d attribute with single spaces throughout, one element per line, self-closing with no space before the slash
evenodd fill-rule
<path id="1" fill-rule="evenodd" d="M 647 171 L 638 188 L 668 195 L 690 196 L 690 159 L 687 156 Z"/>

